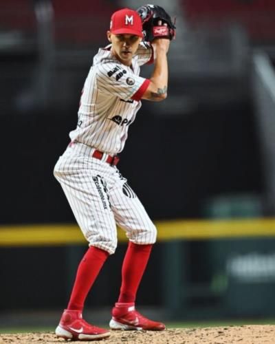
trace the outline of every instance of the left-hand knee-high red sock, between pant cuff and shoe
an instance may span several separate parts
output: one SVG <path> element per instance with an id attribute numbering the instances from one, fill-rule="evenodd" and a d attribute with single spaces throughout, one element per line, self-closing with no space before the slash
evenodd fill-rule
<path id="1" fill-rule="evenodd" d="M 89 247 L 78 266 L 68 310 L 83 310 L 87 294 L 108 256 L 107 251 L 94 246 Z"/>

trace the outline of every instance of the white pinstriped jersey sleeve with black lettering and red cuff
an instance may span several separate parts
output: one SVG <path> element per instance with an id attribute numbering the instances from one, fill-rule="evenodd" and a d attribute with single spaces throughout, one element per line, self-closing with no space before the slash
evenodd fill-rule
<path id="1" fill-rule="evenodd" d="M 123 100 L 140 100 L 150 80 L 133 74 L 130 67 L 104 63 L 97 67 L 98 90 Z"/>

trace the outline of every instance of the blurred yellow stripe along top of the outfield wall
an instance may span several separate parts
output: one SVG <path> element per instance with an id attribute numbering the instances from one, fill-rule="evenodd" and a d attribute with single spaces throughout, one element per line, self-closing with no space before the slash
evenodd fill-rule
<path id="1" fill-rule="evenodd" d="M 274 237 L 275 218 L 230 220 L 171 220 L 155 222 L 158 241 Z M 126 241 L 118 228 L 118 239 Z M 0 246 L 53 246 L 85 244 L 76 224 L 30 224 L 0 226 Z"/>

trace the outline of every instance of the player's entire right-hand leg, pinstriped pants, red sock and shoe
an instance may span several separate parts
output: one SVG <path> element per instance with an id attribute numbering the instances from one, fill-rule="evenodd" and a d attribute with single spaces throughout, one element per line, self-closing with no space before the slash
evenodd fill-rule
<path id="1" fill-rule="evenodd" d="M 120 296 L 112 310 L 110 327 L 113 330 L 161 331 L 165 329 L 163 323 L 151 321 L 135 310 L 135 297 L 157 230 L 126 180 L 120 173 L 116 178 L 115 186 L 109 191 L 110 202 L 115 221 L 126 230 L 130 241 L 122 264 Z"/>

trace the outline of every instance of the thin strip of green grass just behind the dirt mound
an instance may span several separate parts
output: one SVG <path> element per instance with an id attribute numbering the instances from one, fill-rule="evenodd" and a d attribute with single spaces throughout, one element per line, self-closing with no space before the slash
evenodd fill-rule
<path id="1" fill-rule="evenodd" d="M 99 324 L 97 324 L 99 325 Z M 240 325 L 275 325 L 275 319 L 260 319 L 260 320 L 226 320 L 226 321 L 183 321 L 166 323 L 169 328 L 184 328 L 184 327 L 219 327 L 219 326 L 240 326 Z M 102 327 L 106 327 L 102 325 Z M 0 328 L 0 334 L 12 333 L 26 333 L 26 332 L 54 332 L 54 327 L 6 327 Z"/>

